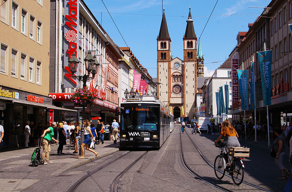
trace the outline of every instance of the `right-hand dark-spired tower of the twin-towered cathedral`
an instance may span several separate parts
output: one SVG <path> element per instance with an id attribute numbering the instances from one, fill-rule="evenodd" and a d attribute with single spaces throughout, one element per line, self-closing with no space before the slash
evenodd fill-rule
<path id="1" fill-rule="evenodd" d="M 197 92 L 197 37 L 194 30 L 191 9 L 186 20 L 186 32 L 183 37 L 183 107 L 184 116 L 192 119 L 194 117 L 194 100 Z"/>

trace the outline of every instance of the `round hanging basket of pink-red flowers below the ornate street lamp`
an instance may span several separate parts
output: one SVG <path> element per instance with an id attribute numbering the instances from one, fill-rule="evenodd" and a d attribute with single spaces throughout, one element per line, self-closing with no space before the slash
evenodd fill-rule
<path id="1" fill-rule="evenodd" d="M 70 97 L 74 102 L 74 106 L 93 105 L 94 100 L 97 99 L 97 95 L 92 93 L 86 88 L 76 89 L 76 91 Z"/>

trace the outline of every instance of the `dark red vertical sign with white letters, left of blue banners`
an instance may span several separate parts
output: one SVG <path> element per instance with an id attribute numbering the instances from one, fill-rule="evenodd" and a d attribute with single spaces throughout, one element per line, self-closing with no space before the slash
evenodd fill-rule
<path id="1" fill-rule="evenodd" d="M 235 109 L 239 105 L 239 92 L 238 92 L 238 59 L 232 59 L 232 108 Z"/>

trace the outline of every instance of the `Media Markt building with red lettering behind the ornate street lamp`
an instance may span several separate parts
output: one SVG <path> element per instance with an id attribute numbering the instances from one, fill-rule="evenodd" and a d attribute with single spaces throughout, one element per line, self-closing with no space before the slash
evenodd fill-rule
<path id="1" fill-rule="evenodd" d="M 51 47 L 50 58 L 50 97 L 53 104 L 74 109 L 70 94 L 77 87 L 82 87 L 73 77 L 68 66 L 71 54 L 75 52 L 79 64 L 75 75 L 84 75 L 84 58 L 88 51 L 97 56 L 98 73 L 93 80 L 86 83 L 92 92 L 98 94 L 94 106 L 85 109 L 85 117 L 101 117 L 104 122 L 112 122 L 114 110 L 118 105 L 118 60 L 122 54 L 108 36 L 106 31 L 94 17 L 83 0 L 73 4 L 57 0 L 51 2 Z M 78 113 L 58 112 L 54 114 L 58 120 L 75 121 Z"/>

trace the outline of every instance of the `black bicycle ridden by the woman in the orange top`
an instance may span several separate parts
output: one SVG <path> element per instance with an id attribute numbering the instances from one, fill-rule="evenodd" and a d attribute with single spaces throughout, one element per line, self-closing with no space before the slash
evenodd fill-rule
<path id="1" fill-rule="evenodd" d="M 214 161 L 214 172 L 218 179 L 222 179 L 225 175 L 225 171 L 229 172 L 231 175 L 233 183 L 240 185 L 244 177 L 244 158 L 243 157 L 233 157 L 230 163 L 229 170 L 226 169 L 226 164 L 224 160 L 224 148 L 227 144 L 227 141 L 220 140 L 219 143 L 215 143 L 215 146 L 220 148 L 220 155 L 217 155 Z"/>

